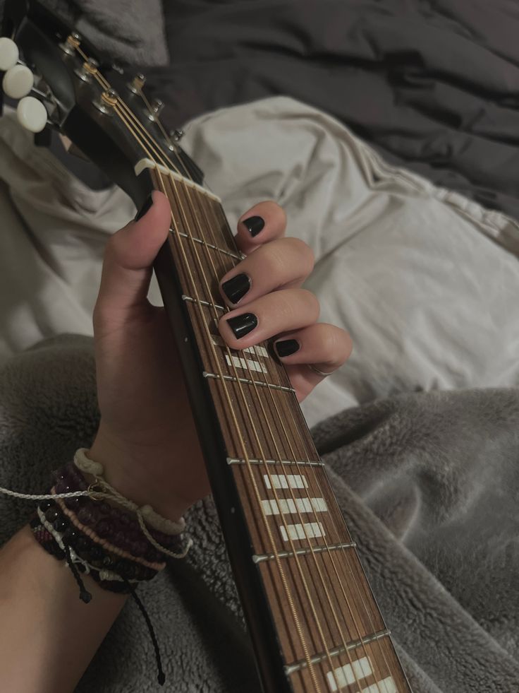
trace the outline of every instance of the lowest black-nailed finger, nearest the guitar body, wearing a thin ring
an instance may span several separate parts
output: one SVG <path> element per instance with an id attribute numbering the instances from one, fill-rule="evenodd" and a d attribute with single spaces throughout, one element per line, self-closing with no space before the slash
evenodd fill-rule
<path id="1" fill-rule="evenodd" d="M 285 365 L 311 364 L 324 373 L 341 367 L 350 357 L 353 343 L 341 328 L 326 323 L 283 333 L 274 342 L 274 350 Z M 319 374 L 308 371 L 317 378 Z"/>

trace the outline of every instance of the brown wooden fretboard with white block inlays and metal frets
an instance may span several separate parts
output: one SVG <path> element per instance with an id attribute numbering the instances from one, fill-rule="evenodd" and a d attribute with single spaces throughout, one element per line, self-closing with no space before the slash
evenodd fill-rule
<path id="1" fill-rule="evenodd" d="M 213 462 L 210 478 L 228 552 L 231 563 L 249 562 L 256 572 L 257 598 L 266 600 L 279 649 L 285 685 L 272 683 L 267 668 L 275 664 L 265 661 L 263 648 L 264 689 L 410 692 L 285 369 L 267 343 L 236 351 L 219 336 L 218 321 L 228 312 L 219 278 L 241 259 L 219 199 L 164 169 L 151 175 L 171 203 L 167 244 L 176 300 L 190 322 L 221 436 L 220 466 Z M 167 307 L 164 271 L 163 264 L 157 276 Z M 231 508 L 224 507 L 224 476 L 238 501 Z M 231 543 L 233 518 L 245 524 L 240 546 Z M 238 591 L 250 602 L 244 574 L 235 567 Z M 245 613 L 262 650 L 252 622 L 257 612 Z"/>

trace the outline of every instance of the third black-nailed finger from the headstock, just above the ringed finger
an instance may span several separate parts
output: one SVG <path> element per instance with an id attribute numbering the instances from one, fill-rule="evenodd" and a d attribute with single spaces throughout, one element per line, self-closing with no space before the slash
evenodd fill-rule
<path id="1" fill-rule="evenodd" d="M 280 332 L 311 325 L 318 317 L 319 302 L 310 291 L 283 289 L 226 313 L 218 328 L 231 348 L 245 349 Z"/>

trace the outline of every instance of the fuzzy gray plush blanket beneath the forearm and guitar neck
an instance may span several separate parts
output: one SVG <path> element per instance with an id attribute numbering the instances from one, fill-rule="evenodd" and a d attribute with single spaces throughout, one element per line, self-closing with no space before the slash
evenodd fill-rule
<path id="1" fill-rule="evenodd" d="M 415 693 L 519 690 L 519 392 L 427 393 L 345 410 L 314 430 Z M 92 339 L 61 336 L 0 372 L 0 485 L 39 492 L 97 427 Z M 0 497 L 0 543 L 31 504 Z M 195 546 L 141 589 L 166 691 L 258 684 L 210 499 L 188 514 Z M 79 693 L 159 689 L 128 603 Z"/>

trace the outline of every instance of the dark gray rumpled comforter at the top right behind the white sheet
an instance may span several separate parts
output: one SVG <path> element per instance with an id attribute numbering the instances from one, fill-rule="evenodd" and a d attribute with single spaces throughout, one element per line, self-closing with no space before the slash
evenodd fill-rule
<path id="1" fill-rule="evenodd" d="M 286 94 L 386 160 L 519 218 L 513 0 L 168 0 L 166 120 Z"/>

